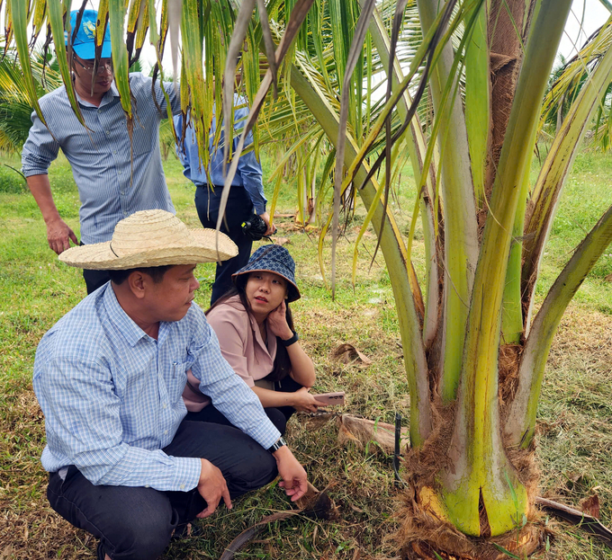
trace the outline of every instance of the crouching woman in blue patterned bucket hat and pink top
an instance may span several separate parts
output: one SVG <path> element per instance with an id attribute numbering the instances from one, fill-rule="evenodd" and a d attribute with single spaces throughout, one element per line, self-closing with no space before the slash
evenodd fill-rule
<path id="1" fill-rule="evenodd" d="M 233 280 L 234 288 L 214 303 L 206 318 L 217 333 L 223 357 L 284 433 L 296 410 L 316 412 L 321 405 L 309 392 L 314 366 L 300 345 L 289 308 L 300 298 L 295 262 L 284 247 L 265 245 Z M 229 423 L 210 400 L 193 391 L 197 385 L 192 387 L 188 382 L 183 393 L 189 420 Z"/>

